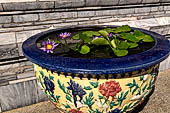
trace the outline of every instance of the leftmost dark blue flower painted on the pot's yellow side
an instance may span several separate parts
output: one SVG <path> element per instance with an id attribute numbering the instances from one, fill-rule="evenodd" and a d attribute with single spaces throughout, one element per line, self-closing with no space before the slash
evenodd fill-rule
<path id="1" fill-rule="evenodd" d="M 48 78 L 48 77 L 44 77 L 44 84 L 46 87 L 46 91 L 48 91 L 49 93 L 54 93 L 54 83 Z"/>

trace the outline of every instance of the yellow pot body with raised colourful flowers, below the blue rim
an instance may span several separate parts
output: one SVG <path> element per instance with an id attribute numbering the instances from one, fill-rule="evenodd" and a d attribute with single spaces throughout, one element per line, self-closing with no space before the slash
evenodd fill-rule
<path id="1" fill-rule="evenodd" d="M 127 113 L 152 90 L 157 77 L 151 73 L 122 79 L 79 79 L 51 73 L 34 65 L 38 83 L 50 101 L 68 113 Z"/>

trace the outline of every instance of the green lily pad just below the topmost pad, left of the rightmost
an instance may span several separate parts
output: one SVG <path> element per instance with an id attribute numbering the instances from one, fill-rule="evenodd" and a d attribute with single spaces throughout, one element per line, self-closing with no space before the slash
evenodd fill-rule
<path id="1" fill-rule="evenodd" d="M 140 40 L 137 39 L 133 34 L 131 33 L 121 33 L 120 34 L 120 38 L 123 38 L 123 39 L 126 39 L 128 41 L 131 41 L 131 42 L 139 42 Z"/>

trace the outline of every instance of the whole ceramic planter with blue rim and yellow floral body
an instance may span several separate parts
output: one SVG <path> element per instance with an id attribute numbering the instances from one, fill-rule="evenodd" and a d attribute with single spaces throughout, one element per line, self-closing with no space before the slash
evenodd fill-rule
<path id="1" fill-rule="evenodd" d="M 23 43 L 24 55 L 33 62 L 38 83 L 54 105 L 69 113 L 127 113 L 142 103 L 154 86 L 160 62 L 169 55 L 166 38 L 138 29 L 154 37 L 154 47 L 110 59 L 52 56 L 37 47 L 37 40 L 67 29 L 42 32 Z"/>

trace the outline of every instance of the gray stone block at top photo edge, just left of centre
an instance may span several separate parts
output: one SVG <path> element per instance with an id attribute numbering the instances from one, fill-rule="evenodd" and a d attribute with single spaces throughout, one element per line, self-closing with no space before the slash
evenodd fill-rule
<path id="1" fill-rule="evenodd" d="M 85 0 L 57 0 L 55 1 L 55 8 L 68 8 L 68 7 L 83 7 Z"/>

